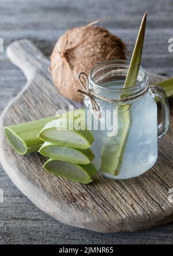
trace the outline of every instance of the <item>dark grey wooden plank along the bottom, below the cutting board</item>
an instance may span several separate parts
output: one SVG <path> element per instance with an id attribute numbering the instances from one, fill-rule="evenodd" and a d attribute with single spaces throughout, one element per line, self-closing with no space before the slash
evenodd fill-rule
<path id="1" fill-rule="evenodd" d="M 28 214 L 28 217 L 31 215 Z M 39 218 L 39 217 L 38 217 Z M 172 244 L 173 225 L 133 233 L 101 234 L 67 227 L 57 221 L 20 219 L 3 221 L 2 240 L 27 244 Z M 16 232 L 17 230 L 17 232 Z M 21 236 L 18 234 L 22 234 Z M 1 236 L 0 236 L 1 239 Z M 1 243 L 0 242 L 0 243 Z"/>

